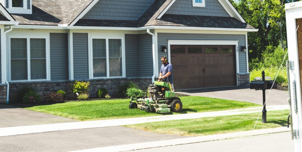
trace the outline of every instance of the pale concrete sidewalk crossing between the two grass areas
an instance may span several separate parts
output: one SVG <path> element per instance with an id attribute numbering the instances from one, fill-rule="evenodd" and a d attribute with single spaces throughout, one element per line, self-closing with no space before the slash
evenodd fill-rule
<path id="1" fill-rule="evenodd" d="M 276 105 L 276 106 L 267 107 L 267 110 L 269 111 L 277 111 L 277 110 L 285 110 L 285 109 L 289 109 L 288 105 Z M 189 113 L 189 114 L 181 114 L 181 115 L 162 115 L 162 116 L 153 116 L 153 117 L 109 119 L 109 120 L 69 122 L 69 123 L 58 123 L 58 124 L 47 124 L 47 125 L 7 127 L 7 128 L 0 128 L 0 137 L 19 135 L 19 134 L 32 134 L 32 133 L 41 133 L 41 132 L 50 132 L 50 131 L 72 130 L 72 129 L 132 125 L 132 124 L 140 124 L 140 123 L 156 122 L 156 121 L 239 115 L 239 114 L 246 114 L 246 113 L 261 112 L 261 110 L 262 107 L 254 107 L 254 108 L 242 108 L 242 109 L 233 109 L 233 110 L 216 111 L 216 112 Z"/>

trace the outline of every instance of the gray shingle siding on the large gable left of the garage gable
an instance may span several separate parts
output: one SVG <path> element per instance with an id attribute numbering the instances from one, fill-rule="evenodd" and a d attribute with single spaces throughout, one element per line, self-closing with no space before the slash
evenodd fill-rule
<path id="1" fill-rule="evenodd" d="M 100 0 L 82 19 L 138 20 L 155 0 Z"/>

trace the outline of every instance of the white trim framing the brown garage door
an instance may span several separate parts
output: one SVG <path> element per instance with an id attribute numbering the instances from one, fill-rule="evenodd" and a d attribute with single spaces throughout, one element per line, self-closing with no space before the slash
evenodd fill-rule
<path id="1" fill-rule="evenodd" d="M 237 40 L 168 40 L 168 60 L 171 63 L 171 45 L 235 45 L 236 47 L 236 81 L 238 86 L 239 54 Z"/>

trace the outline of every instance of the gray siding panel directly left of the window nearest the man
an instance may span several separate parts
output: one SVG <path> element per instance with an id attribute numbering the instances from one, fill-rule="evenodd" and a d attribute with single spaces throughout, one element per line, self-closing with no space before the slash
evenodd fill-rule
<path id="1" fill-rule="evenodd" d="M 88 79 L 88 34 L 73 33 L 73 76 Z"/>

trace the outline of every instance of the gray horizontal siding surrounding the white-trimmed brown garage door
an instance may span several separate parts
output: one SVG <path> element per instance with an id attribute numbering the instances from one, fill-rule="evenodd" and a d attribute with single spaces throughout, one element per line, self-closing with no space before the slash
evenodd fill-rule
<path id="1" fill-rule="evenodd" d="M 240 51 L 240 46 L 245 46 L 245 35 L 239 34 L 178 34 L 158 33 L 158 57 L 168 56 L 161 51 L 161 46 L 168 46 L 168 40 L 238 40 L 239 47 L 239 73 L 246 73 L 246 53 Z M 173 64 L 173 63 L 172 63 Z M 162 63 L 158 59 L 159 70 Z"/>

